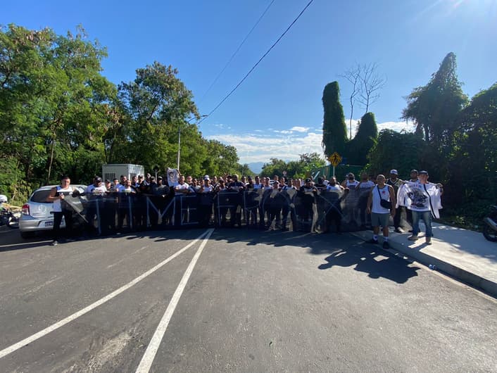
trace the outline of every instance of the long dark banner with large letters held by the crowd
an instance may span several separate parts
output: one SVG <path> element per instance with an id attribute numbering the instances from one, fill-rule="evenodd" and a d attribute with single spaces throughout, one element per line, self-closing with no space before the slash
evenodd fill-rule
<path id="1" fill-rule="evenodd" d="M 66 199 L 68 208 L 99 234 L 209 225 L 298 232 L 353 232 L 370 228 L 367 194 L 355 189 L 227 189 L 217 193 L 158 195 L 108 192 Z"/>

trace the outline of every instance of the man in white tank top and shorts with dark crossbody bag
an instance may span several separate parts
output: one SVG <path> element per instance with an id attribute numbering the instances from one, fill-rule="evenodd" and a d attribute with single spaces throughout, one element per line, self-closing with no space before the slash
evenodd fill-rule
<path id="1" fill-rule="evenodd" d="M 368 241 L 370 244 L 378 243 L 379 226 L 383 228 L 383 248 L 389 245 L 389 218 L 395 216 L 396 196 L 394 188 L 385 184 L 384 175 L 378 175 L 377 185 L 371 188 L 370 196 L 367 198 L 367 213 L 371 214 L 371 225 L 373 226 L 373 237 Z M 390 202 L 390 208 L 382 206 L 382 201 Z"/>

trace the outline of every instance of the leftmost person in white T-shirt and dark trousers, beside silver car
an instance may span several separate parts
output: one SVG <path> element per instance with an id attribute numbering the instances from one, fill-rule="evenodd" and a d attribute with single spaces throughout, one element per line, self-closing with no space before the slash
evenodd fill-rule
<path id="1" fill-rule="evenodd" d="M 65 220 L 65 229 L 68 236 L 73 234 L 73 209 L 64 201 L 65 196 L 70 196 L 73 193 L 73 187 L 70 186 L 70 178 L 68 176 L 61 177 L 61 185 L 51 189 L 47 202 L 53 202 L 54 212 L 54 229 L 52 230 L 53 241 L 51 246 L 56 246 L 60 239 L 62 217 Z"/>

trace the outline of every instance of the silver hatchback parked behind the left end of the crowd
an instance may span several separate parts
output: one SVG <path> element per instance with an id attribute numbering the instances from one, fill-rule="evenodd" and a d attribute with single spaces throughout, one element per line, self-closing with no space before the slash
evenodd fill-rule
<path id="1" fill-rule="evenodd" d="M 19 219 L 19 231 L 23 239 L 34 236 L 36 232 L 51 230 L 54 227 L 54 214 L 51 213 L 54 203 L 46 201 L 54 187 L 56 185 L 47 185 L 35 190 L 23 205 L 23 213 Z M 86 188 L 85 185 L 71 185 L 71 187 L 80 193 L 83 193 Z M 65 222 L 62 219 L 61 228 L 64 227 Z"/>

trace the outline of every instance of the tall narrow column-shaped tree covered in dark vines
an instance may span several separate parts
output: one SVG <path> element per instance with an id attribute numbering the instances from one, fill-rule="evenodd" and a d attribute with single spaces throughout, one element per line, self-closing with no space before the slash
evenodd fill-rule
<path id="1" fill-rule="evenodd" d="M 322 147 L 326 156 L 335 151 L 343 154 L 347 141 L 344 108 L 340 103 L 338 82 L 328 83 L 322 93 L 324 119 L 322 122 Z"/>

